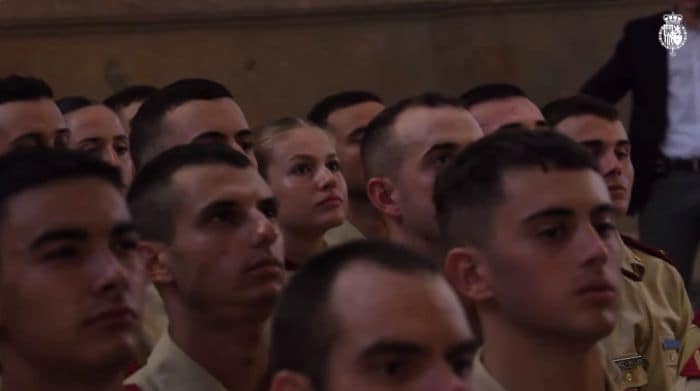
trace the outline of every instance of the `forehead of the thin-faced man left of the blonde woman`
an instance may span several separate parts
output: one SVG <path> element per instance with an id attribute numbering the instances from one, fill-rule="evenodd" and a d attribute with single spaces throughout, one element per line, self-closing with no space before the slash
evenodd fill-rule
<path id="1" fill-rule="evenodd" d="M 173 185 L 193 207 L 210 200 L 226 198 L 255 203 L 272 197 L 272 190 L 252 166 L 236 168 L 225 164 L 185 167 L 173 175 Z"/>

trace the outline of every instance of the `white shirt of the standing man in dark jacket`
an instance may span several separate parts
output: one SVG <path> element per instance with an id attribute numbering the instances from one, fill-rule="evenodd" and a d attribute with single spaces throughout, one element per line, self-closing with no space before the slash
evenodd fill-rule
<path id="1" fill-rule="evenodd" d="M 700 158 L 700 29 L 686 29 L 685 45 L 667 60 L 668 132 L 662 151 L 676 159 Z"/>

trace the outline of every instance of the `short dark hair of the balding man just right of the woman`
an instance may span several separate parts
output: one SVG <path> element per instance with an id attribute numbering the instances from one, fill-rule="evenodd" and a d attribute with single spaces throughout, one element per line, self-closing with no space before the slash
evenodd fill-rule
<path id="1" fill-rule="evenodd" d="M 395 173 L 403 156 L 393 127 L 402 113 L 416 107 L 464 109 L 459 99 L 434 92 L 403 99 L 384 109 L 367 125 L 362 140 L 362 164 L 367 178 Z"/>

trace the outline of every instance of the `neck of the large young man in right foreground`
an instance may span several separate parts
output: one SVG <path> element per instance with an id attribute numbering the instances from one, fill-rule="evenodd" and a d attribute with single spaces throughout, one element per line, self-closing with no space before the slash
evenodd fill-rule
<path id="1" fill-rule="evenodd" d="M 507 390 L 604 391 L 605 366 L 595 343 L 533 336 L 505 323 L 484 322 L 483 364 Z M 515 369 L 515 370 L 514 370 Z"/>

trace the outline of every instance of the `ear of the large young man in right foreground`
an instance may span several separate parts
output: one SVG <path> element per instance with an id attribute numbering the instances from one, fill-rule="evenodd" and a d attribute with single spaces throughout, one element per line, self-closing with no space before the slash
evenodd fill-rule
<path id="1" fill-rule="evenodd" d="M 450 250 L 444 273 L 460 298 L 474 303 L 493 297 L 484 255 L 471 246 Z"/>

